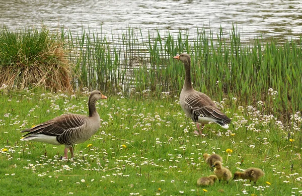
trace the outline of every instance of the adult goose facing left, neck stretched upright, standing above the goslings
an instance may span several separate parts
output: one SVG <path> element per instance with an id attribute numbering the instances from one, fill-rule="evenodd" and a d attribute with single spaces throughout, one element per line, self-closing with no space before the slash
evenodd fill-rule
<path id="1" fill-rule="evenodd" d="M 223 114 L 215 103 L 202 92 L 194 90 L 191 82 L 191 58 L 188 54 L 180 54 L 173 57 L 184 63 L 186 77 L 184 86 L 180 93 L 180 106 L 188 118 L 191 118 L 197 126 L 199 135 L 202 135 L 203 126 L 214 122 L 221 127 L 228 129 L 231 119 Z M 201 130 L 199 128 L 201 124 Z"/>

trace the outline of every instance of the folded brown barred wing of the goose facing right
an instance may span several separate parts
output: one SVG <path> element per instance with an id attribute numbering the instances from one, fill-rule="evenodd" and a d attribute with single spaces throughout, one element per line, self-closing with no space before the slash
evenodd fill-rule
<path id="1" fill-rule="evenodd" d="M 44 134 L 49 136 L 59 136 L 63 134 L 66 130 L 72 130 L 74 128 L 81 127 L 85 124 L 87 117 L 82 115 L 75 115 L 75 114 L 67 114 L 56 117 L 52 120 L 46 121 L 35 127 L 30 129 L 26 129 L 21 131 L 29 132 L 23 137 L 30 135 L 30 134 Z"/>

